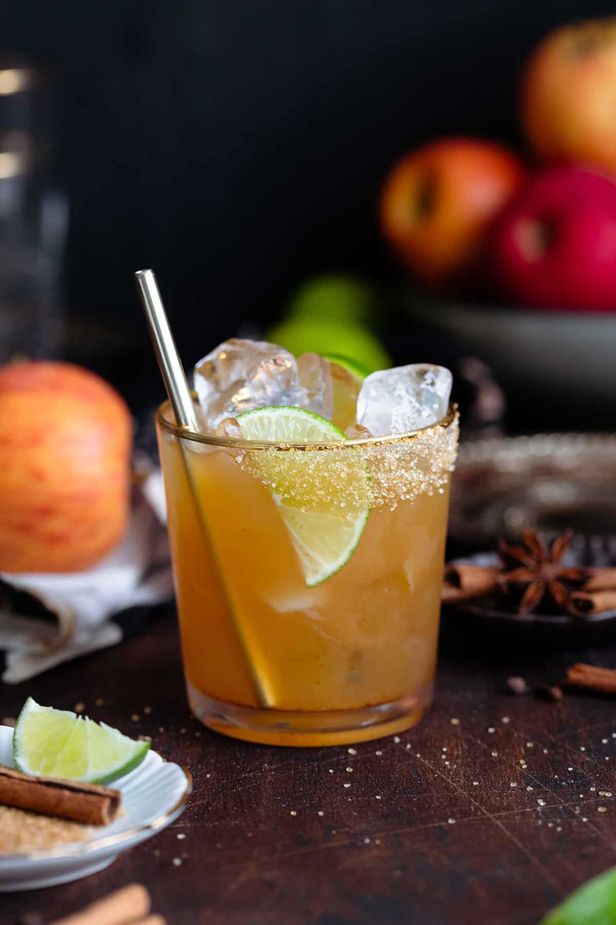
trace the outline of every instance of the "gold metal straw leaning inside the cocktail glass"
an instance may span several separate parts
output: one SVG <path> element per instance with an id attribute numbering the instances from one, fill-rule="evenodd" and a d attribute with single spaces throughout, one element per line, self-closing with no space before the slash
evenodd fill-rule
<path id="1" fill-rule="evenodd" d="M 187 427 L 189 430 L 199 432 L 199 422 L 197 420 L 195 408 L 190 396 L 190 389 L 188 388 L 184 367 L 182 366 L 182 361 L 180 360 L 177 348 L 175 347 L 174 336 L 171 333 L 169 320 L 167 318 L 166 312 L 164 311 L 163 299 L 158 288 L 158 283 L 156 282 L 156 277 L 154 276 L 152 270 L 139 270 L 135 274 L 135 279 L 137 281 L 139 298 L 143 305 L 146 318 L 148 319 L 151 342 L 156 354 L 156 359 L 158 360 L 161 375 L 163 376 L 164 387 L 167 390 L 169 401 L 171 401 L 172 408 L 174 409 L 175 421 L 181 427 Z M 213 545 L 208 535 L 207 521 L 203 511 L 201 510 L 199 488 L 195 483 L 190 461 L 188 459 L 188 451 L 184 446 L 184 441 L 181 438 L 178 442 L 186 467 L 188 484 L 195 501 L 195 507 L 199 515 L 200 524 L 203 528 L 206 544 L 211 551 L 212 557 L 215 560 Z M 236 608 L 234 607 L 234 596 L 230 593 L 232 589 L 229 588 L 224 582 L 223 571 L 218 566 L 217 562 L 215 562 L 215 565 L 216 572 L 218 573 L 221 584 L 223 585 L 225 598 L 229 602 L 229 611 L 231 612 L 232 618 L 235 622 L 237 640 L 244 654 L 244 660 L 247 664 L 248 671 L 250 672 L 255 695 L 257 697 L 257 702 L 259 703 L 260 707 L 272 707 L 274 705 L 274 701 L 270 685 L 267 684 L 263 673 L 258 671 L 254 663 L 246 635 L 239 622 Z"/>

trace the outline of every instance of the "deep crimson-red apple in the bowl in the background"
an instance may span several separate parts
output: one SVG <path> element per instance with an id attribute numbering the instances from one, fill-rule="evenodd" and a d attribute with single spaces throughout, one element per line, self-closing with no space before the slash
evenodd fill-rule
<path id="1" fill-rule="evenodd" d="M 579 166 L 540 171 L 497 219 L 488 259 L 507 299 L 616 310 L 616 183 Z"/>

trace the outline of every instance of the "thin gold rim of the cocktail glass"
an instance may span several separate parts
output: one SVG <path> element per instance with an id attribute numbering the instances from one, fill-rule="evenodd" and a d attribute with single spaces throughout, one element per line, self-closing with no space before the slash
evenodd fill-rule
<path id="1" fill-rule="evenodd" d="M 168 433 L 185 440 L 194 440 L 196 443 L 207 443 L 213 447 L 228 447 L 233 450 L 340 450 L 346 447 L 373 447 L 385 446 L 391 443 L 401 443 L 405 440 L 414 440 L 421 434 L 435 427 L 445 429 L 453 424 L 458 416 L 458 406 L 453 403 L 449 411 L 440 421 L 417 430 L 408 430 L 403 434 L 388 434 L 385 437 L 363 437 L 353 440 L 339 440 L 337 443 L 276 443 L 273 440 L 236 440 L 230 437 L 216 437 L 214 434 L 201 434 L 189 427 L 181 427 L 167 420 L 165 413 L 171 410 L 171 403 L 163 401 L 156 412 L 156 420 Z"/>

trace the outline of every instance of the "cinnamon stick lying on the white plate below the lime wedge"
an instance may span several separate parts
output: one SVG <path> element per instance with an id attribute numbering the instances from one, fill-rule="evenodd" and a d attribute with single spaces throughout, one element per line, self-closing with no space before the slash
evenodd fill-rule
<path id="1" fill-rule="evenodd" d="M 108 825 L 120 808 L 120 792 L 96 783 L 33 777 L 0 766 L 0 803 L 60 816 L 86 825 Z"/>

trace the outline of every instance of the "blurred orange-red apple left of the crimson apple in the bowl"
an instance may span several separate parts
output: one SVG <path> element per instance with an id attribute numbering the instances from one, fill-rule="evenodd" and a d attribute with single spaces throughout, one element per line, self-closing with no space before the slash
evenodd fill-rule
<path id="1" fill-rule="evenodd" d="M 490 222 L 524 179 L 521 161 L 498 144 L 431 142 L 385 179 L 380 226 L 422 282 L 442 286 L 472 277 Z"/>

